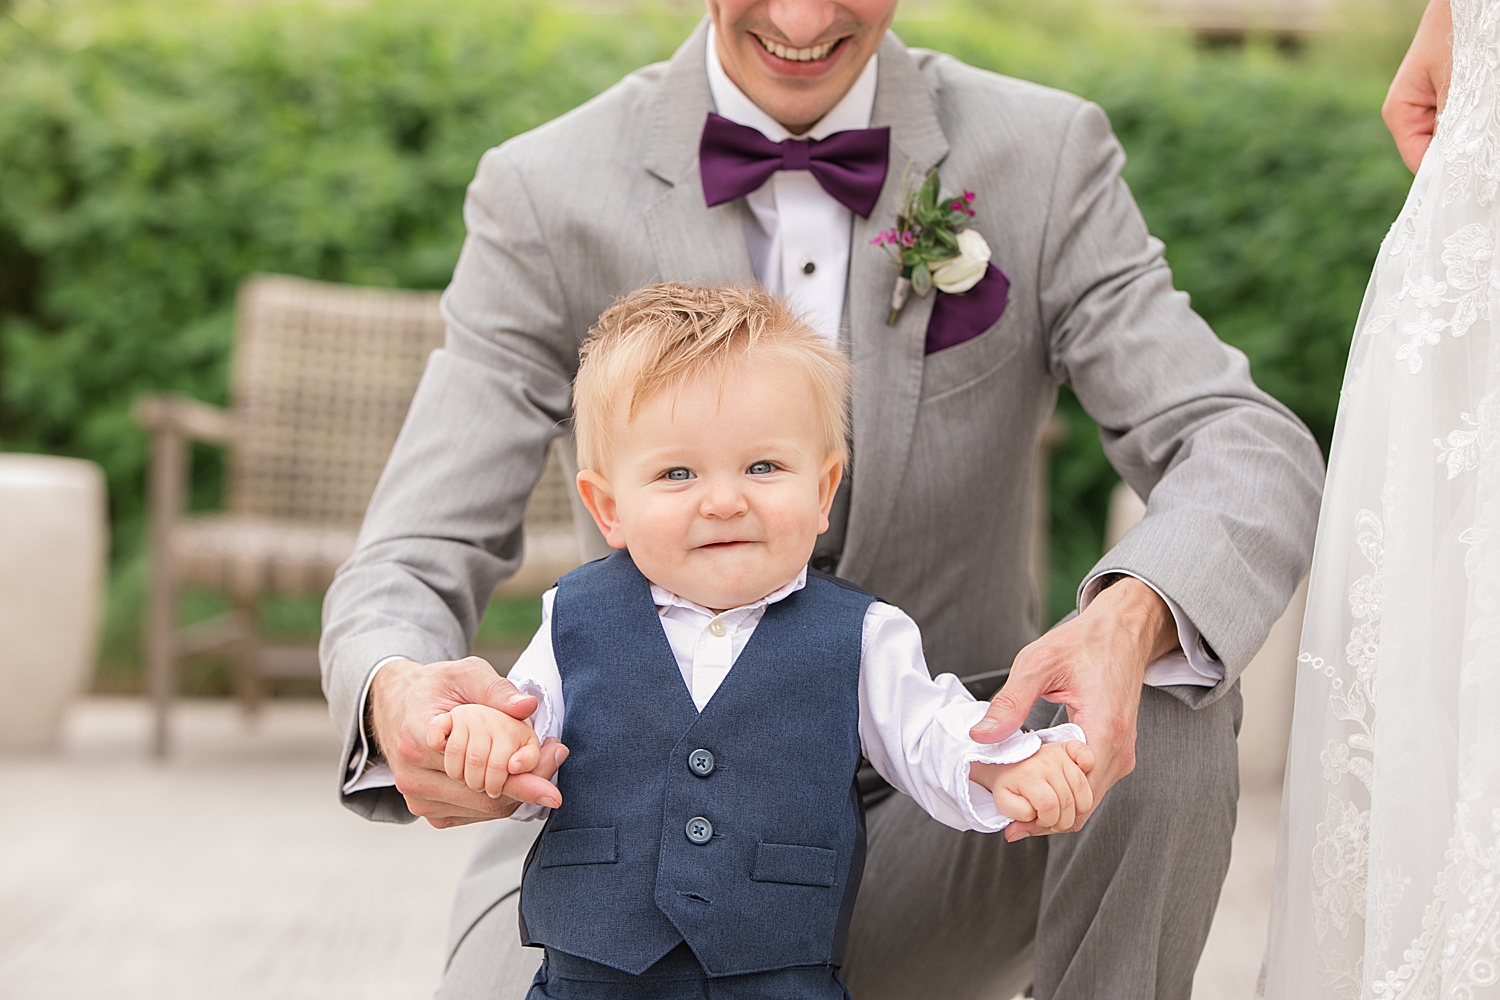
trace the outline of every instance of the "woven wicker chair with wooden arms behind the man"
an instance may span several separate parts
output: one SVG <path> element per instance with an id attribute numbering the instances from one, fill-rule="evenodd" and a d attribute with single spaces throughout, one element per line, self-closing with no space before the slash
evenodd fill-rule
<path id="1" fill-rule="evenodd" d="M 249 711 L 266 678 L 318 676 L 315 649 L 260 640 L 256 604 L 332 583 L 441 343 L 435 294 L 256 276 L 240 289 L 230 408 L 183 396 L 136 402 L 152 433 L 144 642 L 159 754 L 186 657 L 231 652 Z M 222 513 L 184 516 L 189 441 L 228 447 Z M 504 591 L 540 592 L 578 565 L 570 493 L 554 450 L 526 508 L 525 565 Z M 178 628 L 183 586 L 218 589 L 231 610 Z"/>

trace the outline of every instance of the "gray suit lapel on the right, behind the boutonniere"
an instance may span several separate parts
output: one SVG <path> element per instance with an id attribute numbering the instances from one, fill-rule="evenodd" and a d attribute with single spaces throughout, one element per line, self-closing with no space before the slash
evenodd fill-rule
<path id="1" fill-rule="evenodd" d="M 920 181 L 948 154 L 927 84 L 894 34 L 880 45 L 873 126 L 891 126 L 891 168 L 868 219 L 855 216 L 849 250 L 849 337 L 855 369 L 854 490 L 838 574 L 858 580 L 873 564 L 906 471 L 916 403 L 922 388 L 922 348 L 933 295 L 912 295 L 894 325 L 885 325 L 896 267 L 870 240 L 891 228 L 910 163 Z"/>

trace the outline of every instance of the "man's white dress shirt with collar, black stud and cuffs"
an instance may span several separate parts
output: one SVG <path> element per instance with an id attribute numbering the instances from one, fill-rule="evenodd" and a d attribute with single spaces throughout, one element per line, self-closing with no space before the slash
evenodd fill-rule
<path id="1" fill-rule="evenodd" d="M 729 79 L 718 61 L 712 25 L 708 28 L 705 58 L 708 90 L 714 99 L 714 109 L 720 115 L 759 130 L 772 142 L 798 138 L 792 136 Z M 800 138 L 820 139 L 834 132 L 870 127 L 870 117 L 874 112 L 876 63 L 878 57 L 872 55 L 870 63 L 860 73 L 849 93 Z M 849 283 L 849 241 L 854 235 L 854 213 L 825 192 L 810 171 L 777 171 L 759 189 L 746 196 L 746 204 L 750 207 L 750 217 L 744 228 L 746 244 L 750 247 L 750 262 L 754 267 L 756 279 L 766 291 L 792 303 L 814 330 L 826 336 L 830 342 L 837 343 L 838 327 L 843 321 L 844 289 Z M 808 262 L 813 264 L 810 274 L 806 273 Z M 1101 577 L 1102 574 L 1096 574 L 1084 583 L 1080 607 L 1088 607 L 1102 589 Z M 1154 591 L 1156 589 L 1150 580 L 1142 582 Z M 1146 669 L 1146 684 L 1150 687 L 1173 684 L 1214 687 L 1222 681 L 1224 664 L 1209 652 L 1197 627 L 1176 601 L 1161 591 L 1156 594 L 1172 610 L 1180 648 Z M 364 681 L 364 691 L 360 694 L 362 720 L 375 672 L 399 658 L 388 657 L 380 661 Z M 344 792 L 358 792 L 394 783 L 390 768 L 381 762 L 370 762 L 369 736 L 362 724 L 358 745 L 354 747 L 350 757 Z"/>

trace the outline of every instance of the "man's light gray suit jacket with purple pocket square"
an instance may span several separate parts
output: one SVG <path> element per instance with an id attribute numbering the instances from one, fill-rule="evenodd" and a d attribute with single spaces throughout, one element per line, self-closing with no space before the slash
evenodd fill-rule
<path id="1" fill-rule="evenodd" d="M 669 63 L 480 162 L 442 300 L 447 343 L 324 604 L 324 691 L 350 747 L 370 669 L 396 654 L 465 655 L 490 591 L 519 565 L 526 498 L 567 430 L 578 346 L 598 313 L 652 280 L 754 282 L 742 199 L 706 208 L 699 186 L 705 37 L 699 25 Z M 1323 478 L 1312 438 L 1173 289 L 1098 106 L 888 36 L 873 124 L 891 126 L 891 171 L 872 216 L 854 220 L 838 574 L 916 619 L 933 673 L 1005 669 L 1035 636 L 1034 457 L 1068 382 L 1148 498 L 1098 568 L 1182 606 L 1227 679 L 1179 697 L 1218 697 L 1306 571 Z M 999 322 L 930 357 L 933 298 L 885 325 L 896 273 L 868 244 L 891 225 L 908 162 L 976 192 L 978 229 L 1011 279 Z M 346 804 L 411 819 L 394 789 Z"/>

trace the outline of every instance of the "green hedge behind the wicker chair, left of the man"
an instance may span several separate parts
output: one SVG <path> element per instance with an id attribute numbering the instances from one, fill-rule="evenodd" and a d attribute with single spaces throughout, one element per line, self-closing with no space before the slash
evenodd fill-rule
<path id="1" fill-rule="evenodd" d="M 477 0 L 18 6 L 0 28 L 0 441 L 100 462 L 130 552 L 129 402 L 224 399 L 242 277 L 441 288 L 480 153 L 670 54 L 686 24 Z"/>

